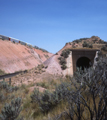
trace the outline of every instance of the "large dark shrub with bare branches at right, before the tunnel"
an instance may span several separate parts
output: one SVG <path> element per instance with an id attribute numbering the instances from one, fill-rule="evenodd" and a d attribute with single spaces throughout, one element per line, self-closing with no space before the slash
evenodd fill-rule
<path id="1" fill-rule="evenodd" d="M 62 96 L 66 99 L 66 114 L 70 120 L 106 120 L 107 118 L 107 58 L 100 58 L 95 69 L 78 69 L 69 86 L 63 85 Z M 73 85 L 73 88 L 70 86 Z"/>

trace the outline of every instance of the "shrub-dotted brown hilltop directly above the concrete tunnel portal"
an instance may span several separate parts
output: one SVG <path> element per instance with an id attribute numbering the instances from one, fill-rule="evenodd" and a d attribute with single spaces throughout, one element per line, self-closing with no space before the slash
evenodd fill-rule
<path id="1" fill-rule="evenodd" d="M 107 42 L 100 39 L 98 36 L 92 36 L 91 38 L 80 38 L 73 40 L 72 42 L 66 43 L 63 49 L 65 48 L 93 48 L 101 49 L 105 51 L 107 47 Z"/>

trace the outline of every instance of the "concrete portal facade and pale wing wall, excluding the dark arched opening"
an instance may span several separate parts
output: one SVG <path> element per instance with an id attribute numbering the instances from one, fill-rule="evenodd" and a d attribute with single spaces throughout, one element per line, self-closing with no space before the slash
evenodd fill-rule
<path id="1" fill-rule="evenodd" d="M 75 49 L 72 50 L 67 58 L 67 69 L 64 70 L 64 75 L 73 75 L 76 71 L 76 63 L 77 60 L 81 57 L 87 57 L 90 59 L 92 65 L 94 63 L 94 58 L 96 55 L 96 51 L 94 49 Z"/>

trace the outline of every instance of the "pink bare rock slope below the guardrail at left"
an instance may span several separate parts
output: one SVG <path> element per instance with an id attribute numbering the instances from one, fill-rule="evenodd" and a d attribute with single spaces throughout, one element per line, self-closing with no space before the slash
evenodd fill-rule
<path id="1" fill-rule="evenodd" d="M 46 55 L 52 54 L 0 39 L 0 69 L 6 73 L 34 68 L 48 58 Z"/>

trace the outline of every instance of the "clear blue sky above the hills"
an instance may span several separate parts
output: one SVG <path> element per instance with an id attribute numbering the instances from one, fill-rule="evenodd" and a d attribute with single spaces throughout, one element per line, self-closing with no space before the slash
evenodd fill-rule
<path id="1" fill-rule="evenodd" d="M 93 35 L 107 41 L 107 0 L 0 0 L 0 34 L 51 53 Z"/>

